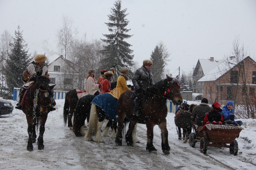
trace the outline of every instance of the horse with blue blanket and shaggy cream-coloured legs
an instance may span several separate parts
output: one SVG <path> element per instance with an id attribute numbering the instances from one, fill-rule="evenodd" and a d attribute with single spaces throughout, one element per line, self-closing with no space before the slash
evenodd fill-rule
<path id="1" fill-rule="evenodd" d="M 104 139 L 101 136 L 101 127 L 106 117 L 108 117 L 113 122 L 113 133 L 112 138 L 116 137 L 116 127 L 117 127 L 117 115 L 116 115 L 116 103 L 117 99 L 108 93 L 100 94 L 96 96 L 91 104 L 90 118 L 88 124 L 88 131 L 84 136 L 87 141 L 92 141 L 92 136 L 95 135 L 95 141 L 104 143 Z M 109 124 L 109 123 L 108 123 Z M 136 126 L 137 128 L 137 126 Z M 109 126 L 107 125 L 103 131 L 103 136 L 108 136 Z M 140 140 L 136 136 L 136 130 L 132 134 L 133 139 L 140 143 Z"/>

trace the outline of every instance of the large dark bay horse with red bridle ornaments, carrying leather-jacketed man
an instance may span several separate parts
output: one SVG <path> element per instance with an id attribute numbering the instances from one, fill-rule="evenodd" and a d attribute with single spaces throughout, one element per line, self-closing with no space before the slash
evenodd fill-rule
<path id="1" fill-rule="evenodd" d="M 133 99 L 131 95 L 133 91 L 125 91 L 117 103 L 118 126 L 115 143 L 116 146 L 122 146 L 123 128 L 125 116 L 131 119 L 128 131 L 125 135 L 127 146 L 133 146 L 132 133 L 136 123 L 146 124 L 147 127 L 147 145 L 146 150 L 149 153 L 157 153 L 153 145 L 154 126 L 158 125 L 161 130 L 162 137 L 162 152 L 166 155 L 170 154 L 170 146 L 168 143 L 168 130 L 166 128 L 166 116 L 168 113 L 166 101 L 170 99 L 175 104 L 182 103 L 182 96 L 180 93 L 180 83 L 178 78 L 169 77 L 166 74 L 166 79 L 160 80 L 156 84 L 148 87 L 145 91 L 145 99 L 139 108 L 141 116 L 134 116 L 133 113 Z"/>

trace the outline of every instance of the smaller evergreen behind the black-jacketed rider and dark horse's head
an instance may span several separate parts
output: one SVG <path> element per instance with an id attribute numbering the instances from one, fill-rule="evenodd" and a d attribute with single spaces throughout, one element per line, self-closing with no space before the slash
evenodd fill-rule
<path id="1" fill-rule="evenodd" d="M 150 60 L 153 61 L 153 66 L 151 67 L 153 80 L 154 82 L 158 82 L 165 78 L 165 66 L 167 65 L 167 58 L 170 56 L 169 52 L 167 51 L 165 45 L 162 42 L 156 45 L 154 51 L 151 53 Z"/>

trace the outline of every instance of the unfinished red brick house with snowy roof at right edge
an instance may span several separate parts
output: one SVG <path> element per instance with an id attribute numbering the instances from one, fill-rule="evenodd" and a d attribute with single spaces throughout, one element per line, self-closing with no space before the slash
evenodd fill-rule
<path id="1" fill-rule="evenodd" d="M 254 98 L 256 62 L 250 56 L 236 65 L 228 66 L 223 62 L 207 75 L 204 75 L 198 80 L 199 82 L 203 83 L 203 97 L 208 98 L 211 102 L 215 99 L 222 104 L 226 104 L 229 100 L 244 101 L 246 93 L 247 96 Z"/>

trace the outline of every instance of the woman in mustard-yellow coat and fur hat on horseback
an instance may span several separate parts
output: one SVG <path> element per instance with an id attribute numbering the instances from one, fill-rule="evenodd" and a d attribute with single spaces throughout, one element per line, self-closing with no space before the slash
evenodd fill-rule
<path id="1" fill-rule="evenodd" d="M 114 88 L 109 94 L 111 94 L 114 98 L 117 100 L 119 99 L 120 95 L 128 90 L 129 87 L 126 84 L 126 81 L 128 80 L 129 69 L 127 67 L 120 68 L 120 75 L 117 78 L 116 88 Z"/>

